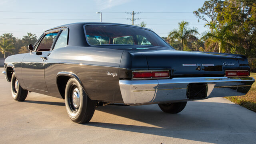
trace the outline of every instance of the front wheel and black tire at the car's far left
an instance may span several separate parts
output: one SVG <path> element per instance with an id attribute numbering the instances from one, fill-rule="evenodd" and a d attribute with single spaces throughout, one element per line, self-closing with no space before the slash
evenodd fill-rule
<path id="1" fill-rule="evenodd" d="M 14 100 L 19 101 L 19 102 L 24 101 L 26 99 L 27 95 L 28 95 L 28 91 L 24 90 L 20 86 L 14 72 L 12 73 L 11 91 L 12 91 L 12 98 Z"/>

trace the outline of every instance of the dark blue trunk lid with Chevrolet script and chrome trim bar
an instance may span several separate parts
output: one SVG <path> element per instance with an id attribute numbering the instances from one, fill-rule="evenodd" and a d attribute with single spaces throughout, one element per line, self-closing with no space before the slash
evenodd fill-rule
<path id="1" fill-rule="evenodd" d="M 225 69 L 239 68 L 239 60 L 235 55 L 178 50 L 153 50 L 139 53 L 146 56 L 150 70 L 170 69 L 172 77 L 224 76 Z"/>

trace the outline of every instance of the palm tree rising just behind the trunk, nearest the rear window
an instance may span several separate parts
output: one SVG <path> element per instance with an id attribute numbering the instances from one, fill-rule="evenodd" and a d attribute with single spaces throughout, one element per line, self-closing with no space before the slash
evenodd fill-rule
<path id="1" fill-rule="evenodd" d="M 181 50 L 184 48 L 184 44 L 186 45 L 188 39 L 196 39 L 196 34 L 198 34 L 197 28 L 189 28 L 188 22 L 181 21 L 178 23 L 178 29 L 174 29 L 168 35 L 168 38 L 171 41 L 180 41 L 181 42 Z"/>

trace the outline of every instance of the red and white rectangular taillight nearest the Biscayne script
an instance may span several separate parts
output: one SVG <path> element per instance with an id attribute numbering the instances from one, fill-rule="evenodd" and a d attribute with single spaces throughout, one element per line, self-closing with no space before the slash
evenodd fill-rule
<path id="1" fill-rule="evenodd" d="M 169 71 L 134 71 L 133 79 L 156 79 L 156 78 L 170 78 Z"/>

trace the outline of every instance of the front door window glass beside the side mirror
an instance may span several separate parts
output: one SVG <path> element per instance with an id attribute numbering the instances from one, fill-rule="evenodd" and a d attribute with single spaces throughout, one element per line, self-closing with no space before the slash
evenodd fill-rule
<path id="1" fill-rule="evenodd" d="M 52 47 L 52 43 L 54 42 L 54 39 L 56 38 L 57 34 L 58 32 L 46 34 L 44 38 L 41 40 L 40 44 L 38 45 L 36 52 L 49 51 Z"/>

